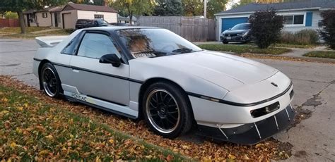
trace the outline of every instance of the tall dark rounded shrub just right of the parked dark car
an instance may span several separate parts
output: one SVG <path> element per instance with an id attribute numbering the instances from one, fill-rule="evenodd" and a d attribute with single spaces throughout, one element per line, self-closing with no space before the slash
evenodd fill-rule
<path id="1" fill-rule="evenodd" d="M 283 28 L 283 16 L 276 15 L 274 9 L 257 11 L 250 15 L 249 23 L 254 42 L 259 48 L 266 49 L 279 39 Z"/>

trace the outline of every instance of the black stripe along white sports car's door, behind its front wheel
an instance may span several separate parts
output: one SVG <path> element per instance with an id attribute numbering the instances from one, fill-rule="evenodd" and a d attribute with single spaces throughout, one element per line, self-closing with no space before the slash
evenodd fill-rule
<path id="1" fill-rule="evenodd" d="M 34 60 L 35 61 L 42 61 L 42 60 L 37 59 L 37 58 L 34 58 Z M 115 77 L 115 78 L 118 78 L 120 80 L 128 80 L 129 82 L 136 82 L 136 83 L 139 83 L 139 84 L 143 84 L 144 83 L 141 80 L 134 80 L 134 79 L 131 79 L 129 77 L 122 77 L 122 76 L 118 76 L 118 75 L 101 73 L 101 72 L 98 72 L 98 71 L 95 71 L 95 70 L 89 70 L 89 69 L 86 69 L 86 68 L 79 68 L 79 67 L 75 67 L 75 66 L 68 66 L 68 65 L 61 64 L 61 63 L 53 63 L 52 62 L 52 65 L 54 65 L 54 66 L 62 66 L 62 67 L 65 67 L 65 68 L 72 68 L 72 69 L 76 69 L 76 70 L 83 70 L 83 71 L 90 72 L 90 73 L 95 73 L 95 74 L 99 74 L 99 75 L 105 75 L 107 77 Z"/>

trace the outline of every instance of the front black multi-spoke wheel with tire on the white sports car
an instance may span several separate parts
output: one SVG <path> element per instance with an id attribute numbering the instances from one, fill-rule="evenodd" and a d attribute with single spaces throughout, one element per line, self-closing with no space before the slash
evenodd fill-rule
<path id="1" fill-rule="evenodd" d="M 169 82 L 150 85 L 143 95 L 142 110 L 148 126 L 158 135 L 175 138 L 192 126 L 191 106 L 182 89 Z"/>

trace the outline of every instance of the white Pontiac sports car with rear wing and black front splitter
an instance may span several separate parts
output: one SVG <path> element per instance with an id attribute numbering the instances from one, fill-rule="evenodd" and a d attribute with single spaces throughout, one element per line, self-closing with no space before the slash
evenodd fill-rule
<path id="1" fill-rule="evenodd" d="M 65 96 L 174 138 L 200 135 L 254 144 L 293 121 L 293 85 L 262 63 L 206 51 L 158 27 L 93 27 L 37 37 L 33 72 L 50 97 Z"/>

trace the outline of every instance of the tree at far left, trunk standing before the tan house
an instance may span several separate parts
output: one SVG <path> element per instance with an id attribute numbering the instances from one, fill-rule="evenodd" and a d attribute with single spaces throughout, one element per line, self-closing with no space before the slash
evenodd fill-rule
<path id="1" fill-rule="evenodd" d="M 45 6 L 57 6 L 66 3 L 66 0 L 1 0 L 0 11 L 11 11 L 18 13 L 21 33 L 25 33 L 25 21 L 23 11 L 30 9 L 40 10 Z"/>

